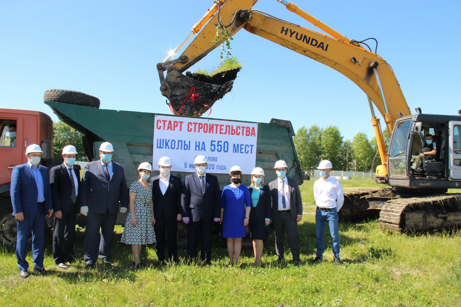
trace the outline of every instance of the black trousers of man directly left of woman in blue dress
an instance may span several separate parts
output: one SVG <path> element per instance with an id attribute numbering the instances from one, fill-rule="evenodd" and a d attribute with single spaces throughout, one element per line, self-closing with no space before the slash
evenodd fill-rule
<path id="1" fill-rule="evenodd" d="M 205 221 L 201 218 L 197 222 L 189 222 L 187 225 L 187 253 L 189 258 L 197 258 L 198 239 L 201 240 L 201 260 L 211 260 L 211 229 L 213 221 Z"/>

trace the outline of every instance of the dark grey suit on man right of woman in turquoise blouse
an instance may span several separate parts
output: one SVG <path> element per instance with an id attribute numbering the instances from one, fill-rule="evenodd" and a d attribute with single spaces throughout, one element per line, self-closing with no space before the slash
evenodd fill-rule
<path id="1" fill-rule="evenodd" d="M 275 251 L 278 260 L 284 259 L 284 236 L 285 229 L 287 232 L 288 242 L 290 243 L 291 255 L 293 261 L 299 261 L 300 246 L 298 239 L 298 222 L 297 215 L 302 215 L 301 191 L 296 180 L 287 177 L 287 183 L 290 187 L 290 211 L 278 211 L 278 179 L 269 183 L 272 193 L 272 221 L 275 231 Z"/>

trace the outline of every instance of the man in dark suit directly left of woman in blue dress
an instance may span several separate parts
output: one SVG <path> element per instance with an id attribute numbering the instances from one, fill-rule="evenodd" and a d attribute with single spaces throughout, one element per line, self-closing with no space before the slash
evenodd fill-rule
<path id="1" fill-rule="evenodd" d="M 207 174 L 207 158 L 195 157 L 196 173 L 184 180 L 181 206 L 187 227 L 187 253 L 189 260 L 197 258 L 197 243 L 201 233 L 201 261 L 211 264 L 211 229 L 213 220 L 221 215 L 221 191 L 216 176 Z"/>

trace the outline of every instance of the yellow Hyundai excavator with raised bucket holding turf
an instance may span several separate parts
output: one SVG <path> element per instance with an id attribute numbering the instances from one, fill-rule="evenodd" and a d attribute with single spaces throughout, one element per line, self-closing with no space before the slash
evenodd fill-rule
<path id="1" fill-rule="evenodd" d="M 217 30 L 231 37 L 245 29 L 337 70 L 366 93 L 383 163 L 376 169 L 376 181 L 393 188 L 345 193 L 343 218 L 378 213 L 382 228 L 390 231 L 420 232 L 461 224 L 461 195 L 445 194 L 449 188 L 461 188 L 461 117 L 423 114 L 419 108 L 412 115 L 392 68 L 376 50 L 372 52 L 365 41 L 346 38 L 291 2 L 277 1 L 327 35 L 252 9 L 257 0 L 215 0 L 176 48 L 175 52 L 196 34 L 183 53 L 171 59 L 173 53 L 157 64 L 160 91 L 170 100 L 171 111 L 201 116 L 231 90 L 229 78 L 212 84 L 183 72 L 223 43 L 216 38 Z M 389 132 L 388 150 L 374 108 Z M 427 135 L 433 137 L 438 154 L 423 155 L 415 168 Z"/>

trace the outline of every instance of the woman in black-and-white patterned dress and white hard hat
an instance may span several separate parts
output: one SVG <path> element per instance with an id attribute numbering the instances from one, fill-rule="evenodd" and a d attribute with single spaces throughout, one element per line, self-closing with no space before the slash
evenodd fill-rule
<path id="1" fill-rule="evenodd" d="M 122 242 L 131 244 L 136 267 L 143 266 L 139 259 L 142 244 L 155 243 L 154 204 L 152 202 L 152 185 L 147 183 L 152 166 L 142 162 L 138 168 L 139 179 L 130 186 L 130 212 L 126 217 Z"/>

